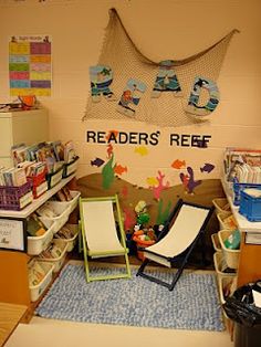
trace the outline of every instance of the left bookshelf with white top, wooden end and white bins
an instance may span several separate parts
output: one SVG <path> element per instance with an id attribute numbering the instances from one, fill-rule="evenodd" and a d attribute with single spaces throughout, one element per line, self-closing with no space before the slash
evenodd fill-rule
<path id="1" fill-rule="evenodd" d="M 77 225 L 73 225 L 71 238 L 61 239 L 59 231 L 69 223 L 70 214 L 77 207 L 80 192 L 71 190 L 72 199 L 70 201 L 54 201 L 52 198 L 66 185 L 75 178 L 75 174 L 63 178 L 58 185 L 45 191 L 41 197 L 33 200 L 30 204 L 20 211 L 0 210 L 0 220 L 27 220 L 32 213 L 44 204 L 52 204 L 58 212 L 56 218 L 42 218 L 46 231 L 39 236 L 27 235 L 25 252 L 18 252 L 12 249 L 0 249 L 0 272 L 4 277 L 0 286 L 0 301 L 28 306 L 29 316 L 32 316 L 32 304 L 41 298 L 43 292 L 50 285 L 53 273 L 60 271 L 67 251 L 71 251 L 77 238 Z M 72 225 L 69 228 L 72 228 Z M 59 244 L 61 252 L 56 259 L 44 259 L 41 254 L 46 251 L 51 244 Z M 39 262 L 41 269 L 36 273 L 40 281 L 29 282 L 30 267 Z M 2 276 L 1 276 L 2 277 Z M 30 320 L 29 318 L 29 320 Z"/>

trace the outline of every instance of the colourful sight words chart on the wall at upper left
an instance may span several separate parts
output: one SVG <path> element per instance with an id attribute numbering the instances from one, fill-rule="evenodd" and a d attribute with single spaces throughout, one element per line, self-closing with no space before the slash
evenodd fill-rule
<path id="1" fill-rule="evenodd" d="M 10 95 L 51 95 L 51 52 L 52 43 L 48 35 L 13 35 L 10 38 Z"/>

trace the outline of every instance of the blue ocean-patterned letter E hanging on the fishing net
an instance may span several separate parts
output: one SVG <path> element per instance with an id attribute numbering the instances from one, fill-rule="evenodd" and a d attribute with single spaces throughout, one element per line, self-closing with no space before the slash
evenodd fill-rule
<path id="1" fill-rule="evenodd" d="M 123 115 L 133 117 L 135 115 L 135 108 L 133 107 L 138 105 L 140 94 L 145 91 L 145 83 L 129 78 L 118 102 L 117 112 L 122 113 Z"/>

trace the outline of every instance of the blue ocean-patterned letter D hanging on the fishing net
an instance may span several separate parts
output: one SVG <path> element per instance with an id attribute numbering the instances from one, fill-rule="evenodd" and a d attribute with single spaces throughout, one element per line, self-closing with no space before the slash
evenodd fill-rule
<path id="1" fill-rule="evenodd" d="M 202 91 L 207 91 L 208 93 L 208 102 L 201 98 L 200 95 Z M 206 98 L 206 97 L 205 97 Z M 186 111 L 196 116 L 207 116 L 218 106 L 219 103 L 219 90 L 217 84 L 205 77 L 196 77 L 192 86 L 192 91 L 189 96 L 188 105 Z"/>

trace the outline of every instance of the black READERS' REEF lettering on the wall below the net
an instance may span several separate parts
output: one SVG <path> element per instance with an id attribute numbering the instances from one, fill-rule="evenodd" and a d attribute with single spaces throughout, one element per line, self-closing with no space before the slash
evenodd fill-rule
<path id="1" fill-rule="evenodd" d="M 211 135 L 199 134 L 176 134 L 168 136 L 169 146 L 176 147 L 199 147 L 207 148 L 211 139 Z M 106 144 L 106 145 L 150 145 L 157 146 L 160 141 L 160 132 L 138 133 L 138 132 L 86 132 L 86 143 L 88 144 Z"/>

